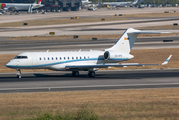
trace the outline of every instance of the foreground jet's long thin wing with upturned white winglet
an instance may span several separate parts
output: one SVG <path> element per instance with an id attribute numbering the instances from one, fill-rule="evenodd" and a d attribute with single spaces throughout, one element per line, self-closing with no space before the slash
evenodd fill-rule
<path id="1" fill-rule="evenodd" d="M 139 63 L 122 63 L 122 64 L 96 64 L 96 65 L 70 65 L 66 66 L 66 70 L 72 69 L 89 69 L 89 68 L 109 68 L 109 67 L 127 67 L 127 66 L 147 66 L 147 65 L 166 65 L 172 55 L 170 55 L 163 63 L 160 64 L 139 64 Z"/>

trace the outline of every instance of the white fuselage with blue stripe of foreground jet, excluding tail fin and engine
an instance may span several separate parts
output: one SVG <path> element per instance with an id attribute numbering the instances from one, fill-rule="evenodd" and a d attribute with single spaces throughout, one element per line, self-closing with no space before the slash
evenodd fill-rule
<path id="1" fill-rule="evenodd" d="M 71 65 L 96 65 L 118 63 L 133 58 L 130 54 L 117 53 L 108 60 L 104 59 L 104 51 L 76 52 L 26 52 L 12 59 L 6 66 L 15 69 L 50 69 L 65 71 Z M 86 70 L 86 69 L 78 69 Z"/>

